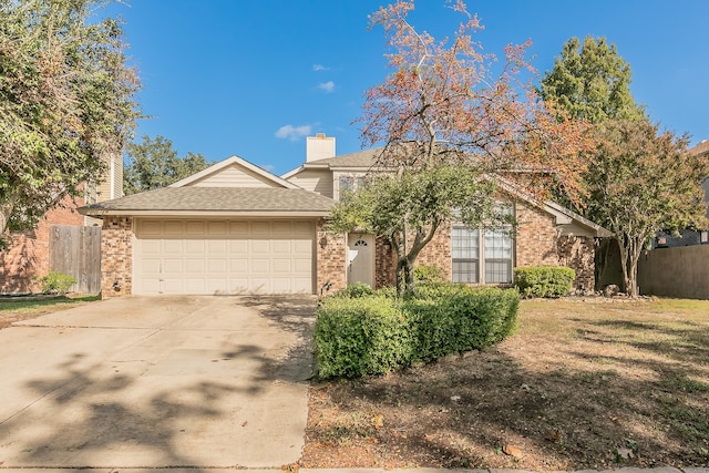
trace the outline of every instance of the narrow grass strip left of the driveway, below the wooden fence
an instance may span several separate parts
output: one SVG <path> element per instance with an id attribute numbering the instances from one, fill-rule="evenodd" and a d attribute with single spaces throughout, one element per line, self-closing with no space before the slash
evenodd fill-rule
<path id="1" fill-rule="evenodd" d="M 85 294 L 56 297 L 2 297 L 0 298 L 0 329 L 20 320 L 33 319 L 100 299 L 99 295 Z"/>

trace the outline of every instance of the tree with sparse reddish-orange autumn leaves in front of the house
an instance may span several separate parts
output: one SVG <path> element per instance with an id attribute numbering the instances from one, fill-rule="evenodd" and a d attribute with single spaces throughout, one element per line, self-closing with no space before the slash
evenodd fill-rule
<path id="1" fill-rule="evenodd" d="M 577 198 L 583 193 L 577 176 L 584 168 L 578 151 L 587 146 L 584 123 L 557 121 L 538 99 L 527 80 L 534 73 L 526 60 L 530 42 L 508 45 L 496 62 L 473 40 L 482 28 L 477 18 L 462 1 L 452 8 L 463 22 L 452 38 L 440 41 L 413 27 L 412 0 L 399 0 L 371 16 L 371 25 L 384 30 L 391 72 L 366 93 L 358 120 L 362 145 L 383 144 L 377 165 L 400 179 L 455 165 L 474 174 L 472 183 L 490 193 L 487 200 L 496 191 L 486 183 L 500 173 L 524 176 L 535 189 L 559 186 Z M 540 198 L 544 195 L 537 193 Z M 340 203 L 347 205 L 356 212 L 352 199 Z M 420 248 L 407 240 L 422 235 L 419 240 L 430 241 L 438 222 L 438 217 L 413 222 L 408 218 L 411 212 L 401 212 L 397 218 L 405 225 L 384 235 L 398 250 L 399 279 L 410 281 L 408 286 L 412 278 L 405 274 Z M 472 220 L 482 224 L 485 218 L 480 214 Z"/>

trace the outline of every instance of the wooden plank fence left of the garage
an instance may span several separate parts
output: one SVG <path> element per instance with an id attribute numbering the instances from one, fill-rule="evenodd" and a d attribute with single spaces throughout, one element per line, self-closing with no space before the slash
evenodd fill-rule
<path id="1" fill-rule="evenodd" d="M 70 291 L 101 292 L 101 227 L 53 225 L 49 238 L 49 269 L 76 279 Z"/>

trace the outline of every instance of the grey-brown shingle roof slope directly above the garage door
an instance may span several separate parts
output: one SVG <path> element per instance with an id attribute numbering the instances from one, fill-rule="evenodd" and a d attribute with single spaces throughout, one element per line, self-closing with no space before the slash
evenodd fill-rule
<path id="1" fill-rule="evenodd" d="M 107 212 L 322 212 L 331 198 L 280 187 L 165 187 L 84 207 L 88 215 Z"/>

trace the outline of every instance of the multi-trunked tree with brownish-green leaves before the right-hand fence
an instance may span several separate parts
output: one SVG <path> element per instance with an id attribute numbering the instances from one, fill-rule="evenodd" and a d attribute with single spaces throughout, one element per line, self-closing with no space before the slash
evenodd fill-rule
<path id="1" fill-rule="evenodd" d="M 594 155 L 588 213 L 613 232 L 626 292 L 635 297 L 637 264 L 659 230 L 706 227 L 701 181 L 709 163 L 687 153 L 687 136 L 659 133 L 648 119 L 607 120 Z"/>

